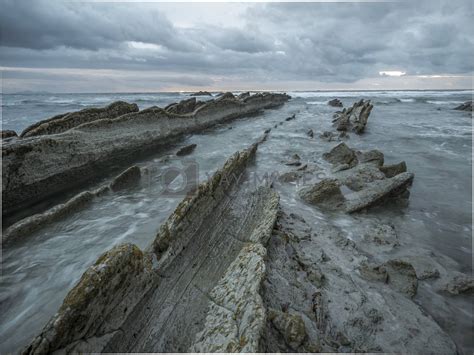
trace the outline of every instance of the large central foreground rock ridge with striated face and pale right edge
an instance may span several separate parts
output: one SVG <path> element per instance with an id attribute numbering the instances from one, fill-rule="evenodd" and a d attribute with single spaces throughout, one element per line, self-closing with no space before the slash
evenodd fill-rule
<path id="1" fill-rule="evenodd" d="M 238 178 L 256 150 L 186 197 L 146 251 L 122 244 L 99 257 L 24 353 L 258 351 L 279 197 Z"/>

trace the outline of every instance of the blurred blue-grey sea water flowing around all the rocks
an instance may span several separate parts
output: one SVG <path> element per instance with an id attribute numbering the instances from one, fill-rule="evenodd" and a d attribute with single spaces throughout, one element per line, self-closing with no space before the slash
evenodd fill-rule
<path id="1" fill-rule="evenodd" d="M 293 153 L 325 166 L 322 153 L 336 142 L 325 142 L 319 133 L 332 130 L 337 110 L 327 101 L 339 98 L 345 107 L 361 98 L 374 109 L 366 133 L 351 134 L 346 142 L 360 150 L 379 149 L 386 164 L 405 160 L 415 173 L 409 205 L 382 209 L 370 216 L 390 221 L 403 242 L 400 255 L 419 252 L 432 255 L 452 271 L 470 273 L 472 267 L 472 116 L 453 108 L 472 100 L 472 91 L 367 91 L 290 92 L 292 100 L 263 115 L 236 120 L 186 137 L 168 151 L 139 161 L 152 173 L 136 188 L 106 195 L 87 209 L 3 249 L 0 282 L 0 352 L 21 349 L 60 306 L 68 290 L 84 270 L 104 251 L 121 242 L 145 248 L 182 196 L 163 196 L 160 176 L 170 166 L 186 162 L 172 155 L 196 143 L 188 158 L 198 166 L 201 181 L 219 168 L 235 151 L 247 147 L 263 131 L 296 114 L 296 119 L 273 129 L 257 155 L 259 174 L 286 171 L 282 161 Z M 29 124 L 55 114 L 86 107 L 104 106 L 116 100 L 135 102 L 140 109 L 165 106 L 187 98 L 184 93 L 157 94 L 42 94 L 3 95 L 2 126 L 21 132 Z M 198 99 L 207 99 L 202 97 Z M 232 128 L 232 129 L 230 129 Z M 305 132 L 313 129 L 315 138 Z M 166 157 L 170 159 L 164 159 Z M 314 210 L 315 221 L 357 231 L 357 219 L 328 216 L 294 198 L 295 186 L 282 187 L 282 201 L 300 210 Z M 447 298 L 421 286 L 416 302 L 453 337 L 460 351 L 472 353 L 472 303 Z"/>

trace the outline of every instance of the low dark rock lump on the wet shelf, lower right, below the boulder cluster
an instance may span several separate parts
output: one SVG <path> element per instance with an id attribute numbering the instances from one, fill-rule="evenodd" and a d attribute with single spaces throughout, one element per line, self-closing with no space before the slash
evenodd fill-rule
<path id="1" fill-rule="evenodd" d="M 403 260 L 389 260 L 378 266 L 364 263 L 359 270 L 361 275 L 366 279 L 387 283 L 395 290 L 406 294 L 410 298 L 416 295 L 418 278 L 416 277 L 413 265 L 409 262 Z"/>

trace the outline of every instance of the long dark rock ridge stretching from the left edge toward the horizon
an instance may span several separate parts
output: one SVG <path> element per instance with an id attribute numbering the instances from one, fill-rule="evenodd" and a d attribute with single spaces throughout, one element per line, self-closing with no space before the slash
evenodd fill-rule
<path id="1" fill-rule="evenodd" d="M 2 215 L 11 216 L 50 196 L 85 186 L 108 175 L 111 169 L 156 152 L 185 134 L 278 107 L 288 99 L 286 94 L 255 94 L 245 102 L 213 100 L 186 115 L 150 107 L 119 117 L 107 114 L 107 118 L 80 124 L 63 133 L 4 140 Z M 129 109 L 134 107 L 130 105 Z M 104 113 L 109 109 L 110 106 L 94 110 Z M 67 117 L 83 117 L 84 111 L 63 116 L 64 122 L 70 122 Z M 89 120 L 90 116 L 87 117 Z M 38 129 L 42 129 L 40 126 Z"/>

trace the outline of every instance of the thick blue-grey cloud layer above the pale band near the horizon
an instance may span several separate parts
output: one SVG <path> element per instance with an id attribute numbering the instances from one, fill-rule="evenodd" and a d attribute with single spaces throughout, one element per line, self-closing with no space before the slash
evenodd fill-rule
<path id="1" fill-rule="evenodd" d="M 6 67 L 168 71 L 195 86 L 465 74 L 472 18 L 469 0 L 268 3 L 249 7 L 241 27 L 196 19 L 181 28 L 156 3 L 5 0 L 0 58 Z"/>

